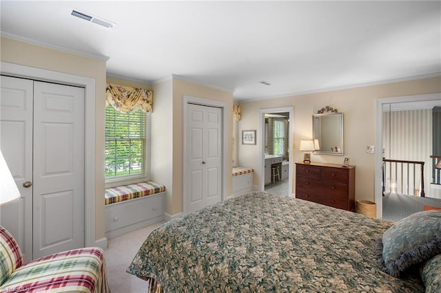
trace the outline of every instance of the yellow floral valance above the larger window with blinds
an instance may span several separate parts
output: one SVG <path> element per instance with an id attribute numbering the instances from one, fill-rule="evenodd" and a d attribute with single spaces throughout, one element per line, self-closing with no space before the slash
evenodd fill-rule
<path id="1" fill-rule="evenodd" d="M 153 111 L 153 91 L 107 83 L 105 103 L 122 113 L 129 113 L 136 109 L 142 109 L 147 113 Z"/>

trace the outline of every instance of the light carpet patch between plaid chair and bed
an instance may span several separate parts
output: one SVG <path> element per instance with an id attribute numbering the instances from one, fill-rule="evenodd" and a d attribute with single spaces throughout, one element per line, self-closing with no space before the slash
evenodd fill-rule
<path id="1" fill-rule="evenodd" d="M 141 247 L 147 235 L 156 227 L 163 224 L 157 223 L 107 241 L 105 262 L 107 280 L 112 293 L 140 293 L 147 292 L 147 282 L 137 276 L 125 272 L 132 262 L 136 252 Z"/>

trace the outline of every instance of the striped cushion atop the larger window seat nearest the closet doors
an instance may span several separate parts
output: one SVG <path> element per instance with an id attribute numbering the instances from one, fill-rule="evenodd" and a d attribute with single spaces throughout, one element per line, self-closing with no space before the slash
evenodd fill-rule
<path id="1" fill-rule="evenodd" d="M 105 188 L 105 204 L 114 204 L 125 200 L 162 193 L 165 186 L 156 182 L 140 182 L 112 188 Z"/>

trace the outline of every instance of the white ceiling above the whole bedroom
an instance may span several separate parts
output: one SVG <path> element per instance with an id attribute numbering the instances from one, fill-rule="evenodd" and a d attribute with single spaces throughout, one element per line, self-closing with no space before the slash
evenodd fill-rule
<path id="1" fill-rule="evenodd" d="M 0 1 L 1 35 L 234 100 L 440 76 L 441 1 Z M 105 28 L 72 10 L 114 23 Z M 263 85 L 266 81 L 271 85 Z"/>

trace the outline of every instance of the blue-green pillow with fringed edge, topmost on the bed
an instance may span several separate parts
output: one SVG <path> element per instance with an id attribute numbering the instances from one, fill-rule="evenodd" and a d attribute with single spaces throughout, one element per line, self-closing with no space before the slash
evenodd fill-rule
<path id="1" fill-rule="evenodd" d="M 441 210 L 427 210 L 401 219 L 377 239 L 378 263 L 384 272 L 404 270 L 441 253 Z"/>

